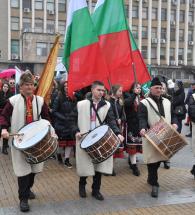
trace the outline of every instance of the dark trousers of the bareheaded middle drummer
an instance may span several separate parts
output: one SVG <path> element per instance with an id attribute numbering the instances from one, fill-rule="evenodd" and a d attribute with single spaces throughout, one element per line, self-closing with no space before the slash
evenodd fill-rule
<path id="1" fill-rule="evenodd" d="M 95 172 L 93 176 L 92 192 L 99 192 L 101 186 L 102 174 Z M 80 177 L 79 186 L 85 186 L 87 184 L 87 177 Z"/>

